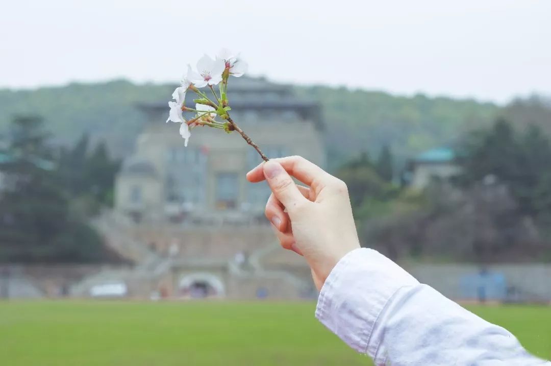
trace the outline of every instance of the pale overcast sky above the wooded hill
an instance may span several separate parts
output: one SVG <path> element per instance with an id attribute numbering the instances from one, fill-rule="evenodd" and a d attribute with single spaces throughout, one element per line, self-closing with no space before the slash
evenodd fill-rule
<path id="1" fill-rule="evenodd" d="M 3 3 L 0 34 L 0 87 L 177 82 L 225 46 L 281 82 L 551 95 L 547 0 L 17 0 Z"/>

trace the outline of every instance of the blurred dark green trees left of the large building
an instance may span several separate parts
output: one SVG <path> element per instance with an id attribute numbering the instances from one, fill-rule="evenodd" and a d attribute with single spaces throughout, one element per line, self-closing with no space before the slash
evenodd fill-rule
<path id="1" fill-rule="evenodd" d="M 118 162 L 83 136 L 56 148 L 44 122 L 18 116 L 0 148 L 0 262 L 117 260 L 88 224 L 112 201 Z"/>

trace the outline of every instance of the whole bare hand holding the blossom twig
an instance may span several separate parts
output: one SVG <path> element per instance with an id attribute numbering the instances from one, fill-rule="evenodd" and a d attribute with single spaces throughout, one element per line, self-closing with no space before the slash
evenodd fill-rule
<path id="1" fill-rule="evenodd" d="M 272 190 L 266 217 L 280 244 L 305 257 L 320 290 L 337 262 L 360 247 L 346 184 L 302 157 L 271 159 L 247 173 L 251 182 L 264 179 Z"/>

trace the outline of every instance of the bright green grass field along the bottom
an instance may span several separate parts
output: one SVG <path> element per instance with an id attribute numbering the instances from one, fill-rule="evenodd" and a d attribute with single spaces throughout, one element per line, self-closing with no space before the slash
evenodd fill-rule
<path id="1" fill-rule="evenodd" d="M 370 365 L 314 318 L 314 303 L 0 303 L 0 364 Z M 551 308 L 470 307 L 551 357 Z"/>

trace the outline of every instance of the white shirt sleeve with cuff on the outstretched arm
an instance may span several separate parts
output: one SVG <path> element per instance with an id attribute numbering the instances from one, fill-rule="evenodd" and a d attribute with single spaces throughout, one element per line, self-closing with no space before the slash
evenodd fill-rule
<path id="1" fill-rule="evenodd" d="M 356 249 L 337 263 L 321 289 L 316 317 L 377 366 L 551 366 L 510 332 L 371 249 Z"/>

